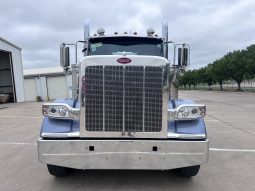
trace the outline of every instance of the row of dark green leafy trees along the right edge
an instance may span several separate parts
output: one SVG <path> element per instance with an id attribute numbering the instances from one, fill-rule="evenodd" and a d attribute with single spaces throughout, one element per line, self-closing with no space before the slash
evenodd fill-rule
<path id="1" fill-rule="evenodd" d="M 244 79 L 253 79 L 255 76 L 255 45 L 248 46 L 245 50 L 237 50 L 226 54 L 216 60 L 213 64 L 198 70 L 187 71 L 181 79 L 181 84 L 185 86 L 206 83 L 211 90 L 211 86 L 218 82 L 223 90 L 223 82 L 232 78 L 241 90 L 241 83 Z"/>

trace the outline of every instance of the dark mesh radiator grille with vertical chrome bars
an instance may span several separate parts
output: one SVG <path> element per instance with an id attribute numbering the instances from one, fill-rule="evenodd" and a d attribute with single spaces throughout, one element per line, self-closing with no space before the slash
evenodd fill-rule
<path id="1" fill-rule="evenodd" d="M 88 66 L 85 83 L 87 131 L 161 131 L 161 67 Z"/>

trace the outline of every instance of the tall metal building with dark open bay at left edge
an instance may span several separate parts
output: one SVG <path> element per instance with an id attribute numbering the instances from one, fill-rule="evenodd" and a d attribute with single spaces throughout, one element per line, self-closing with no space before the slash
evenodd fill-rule
<path id="1" fill-rule="evenodd" d="M 21 48 L 0 37 L 0 96 L 9 102 L 24 101 Z"/>

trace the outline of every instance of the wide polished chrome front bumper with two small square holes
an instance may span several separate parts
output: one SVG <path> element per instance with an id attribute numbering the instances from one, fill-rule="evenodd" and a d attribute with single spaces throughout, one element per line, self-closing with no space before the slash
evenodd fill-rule
<path id="1" fill-rule="evenodd" d="M 45 140 L 38 139 L 44 164 L 76 169 L 167 170 L 208 161 L 209 140 Z"/>

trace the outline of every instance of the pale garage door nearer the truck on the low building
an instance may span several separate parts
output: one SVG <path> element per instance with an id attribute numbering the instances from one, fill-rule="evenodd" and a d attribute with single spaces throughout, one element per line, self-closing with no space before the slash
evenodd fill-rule
<path id="1" fill-rule="evenodd" d="M 47 86 L 50 100 L 67 97 L 65 76 L 47 77 Z"/>

